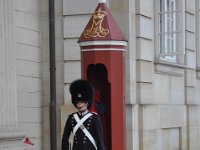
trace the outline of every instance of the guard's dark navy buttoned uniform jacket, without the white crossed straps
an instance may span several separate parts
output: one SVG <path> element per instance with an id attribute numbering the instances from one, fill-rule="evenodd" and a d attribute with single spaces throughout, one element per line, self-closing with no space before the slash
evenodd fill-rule
<path id="1" fill-rule="evenodd" d="M 87 113 L 92 115 L 83 122 L 83 126 L 80 126 L 77 131 L 74 133 L 72 150 L 105 150 L 104 146 L 104 137 L 101 120 L 98 114 L 93 112 L 85 112 L 81 114 L 76 112 L 78 118 L 81 120 Z M 77 121 L 74 117 L 74 114 L 69 115 L 62 138 L 62 150 L 70 150 L 69 137 L 73 132 L 74 127 L 77 125 Z M 95 145 L 91 142 L 88 136 L 83 132 L 81 128 L 87 129 L 90 135 L 95 141 Z M 96 148 L 95 148 L 96 147 Z"/>

